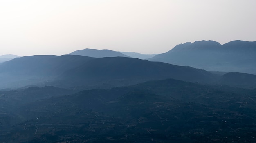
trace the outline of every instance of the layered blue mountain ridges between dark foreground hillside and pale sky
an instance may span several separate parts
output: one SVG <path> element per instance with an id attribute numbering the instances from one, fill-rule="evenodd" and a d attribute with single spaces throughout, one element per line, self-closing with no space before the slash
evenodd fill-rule
<path id="1" fill-rule="evenodd" d="M 79 50 L 63 56 L 24 56 L 0 64 L 0 89 L 45 85 L 81 89 L 111 88 L 166 78 L 254 88 L 254 75 L 240 72 L 255 72 L 254 50 L 255 42 L 232 41 L 220 45 L 215 41 L 196 41 L 177 45 L 167 53 L 150 58 L 151 62 L 124 57 L 120 52 L 95 49 Z M 72 55 L 83 53 L 91 57 Z M 101 56 L 104 58 L 94 58 Z M 176 65 L 168 64 L 168 60 Z M 197 66 L 224 72 L 219 74 L 222 72 L 192 68 Z M 227 73 L 233 70 L 235 73 Z M 227 75 L 233 75 L 233 83 Z"/>

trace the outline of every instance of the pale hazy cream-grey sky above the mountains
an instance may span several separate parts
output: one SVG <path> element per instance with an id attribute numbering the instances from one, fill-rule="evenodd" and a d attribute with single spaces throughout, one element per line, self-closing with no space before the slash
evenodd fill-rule
<path id="1" fill-rule="evenodd" d="M 256 0 L 0 0 L 0 55 L 256 41 Z"/>

